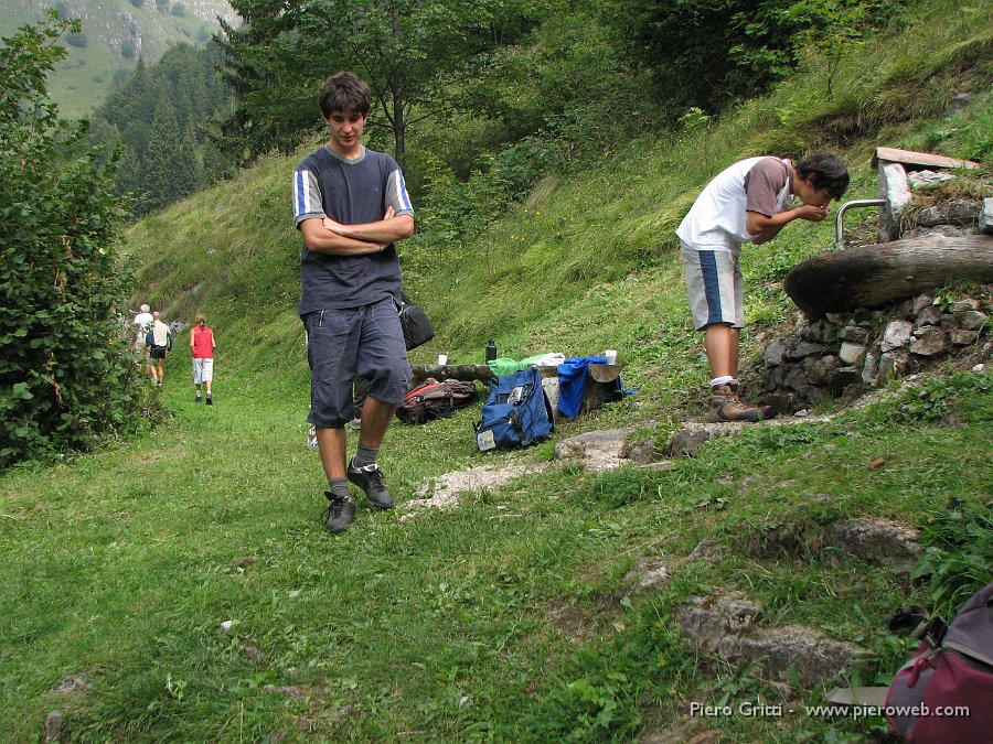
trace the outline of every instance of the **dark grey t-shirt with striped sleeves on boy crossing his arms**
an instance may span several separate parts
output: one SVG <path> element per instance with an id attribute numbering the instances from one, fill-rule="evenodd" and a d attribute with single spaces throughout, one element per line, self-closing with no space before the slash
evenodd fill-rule
<path id="1" fill-rule="evenodd" d="M 389 155 L 362 148 L 354 160 L 324 145 L 293 171 L 293 216 L 361 225 L 383 218 L 386 208 L 413 215 L 404 174 Z M 297 314 L 357 308 L 385 296 L 399 298 L 399 259 L 394 246 L 366 256 L 329 256 L 303 246 L 300 255 L 302 293 Z"/>

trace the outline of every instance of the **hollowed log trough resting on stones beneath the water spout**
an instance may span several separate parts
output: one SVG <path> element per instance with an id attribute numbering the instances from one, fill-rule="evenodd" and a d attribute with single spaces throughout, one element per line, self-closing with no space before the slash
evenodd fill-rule
<path id="1" fill-rule="evenodd" d="M 793 267 L 783 289 L 813 321 L 882 308 L 949 279 L 993 281 L 993 237 L 929 235 L 824 254 Z"/>

